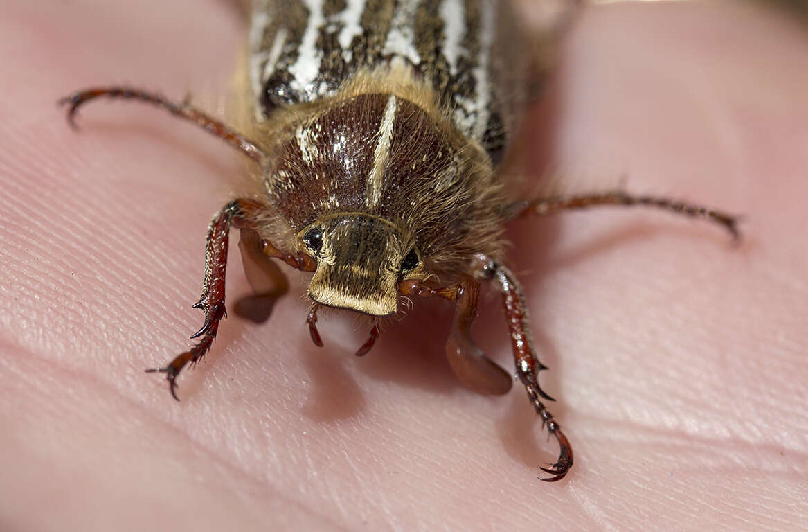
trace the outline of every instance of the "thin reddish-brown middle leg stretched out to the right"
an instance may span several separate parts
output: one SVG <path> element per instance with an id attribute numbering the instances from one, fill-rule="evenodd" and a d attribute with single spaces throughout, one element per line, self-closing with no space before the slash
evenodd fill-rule
<path id="1" fill-rule="evenodd" d="M 600 194 L 582 194 L 578 196 L 557 196 L 542 198 L 536 201 L 524 201 L 522 203 L 511 205 L 511 213 L 514 217 L 521 216 L 525 213 L 536 214 L 552 214 L 558 213 L 562 210 L 569 209 L 587 209 L 588 207 L 595 207 L 599 205 L 617 205 L 622 207 L 630 207 L 633 205 L 642 205 L 646 207 L 657 207 L 665 209 L 671 213 L 684 214 L 690 217 L 700 217 L 709 222 L 717 223 L 724 229 L 728 230 L 733 239 L 738 239 L 740 234 L 738 231 L 739 217 L 732 216 L 731 214 L 723 213 L 722 211 L 710 209 L 703 205 L 693 205 L 685 203 L 684 201 L 675 201 L 663 197 L 653 196 L 632 196 L 621 190 L 615 192 L 604 192 Z"/>

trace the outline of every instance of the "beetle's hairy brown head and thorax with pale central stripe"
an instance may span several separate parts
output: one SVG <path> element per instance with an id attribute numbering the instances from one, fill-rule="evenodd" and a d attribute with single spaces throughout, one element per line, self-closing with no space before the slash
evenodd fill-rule
<path id="1" fill-rule="evenodd" d="M 410 82 L 400 92 L 417 93 Z M 263 179 L 266 209 L 281 220 L 264 217 L 257 230 L 268 236 L 280 222 L 297 233 L 297 250 L 318 263 L 315 302 L 388 315 L 408 254 L 419 279 L 470 275 L 481 252 L 499 258 L 501 186 L 481 148 L 435 109 L 389 92 L 349 94 L 285 110 L 301 118 L 284 128 Z M 312 231 L 317 247 L 306 243 Z"/>

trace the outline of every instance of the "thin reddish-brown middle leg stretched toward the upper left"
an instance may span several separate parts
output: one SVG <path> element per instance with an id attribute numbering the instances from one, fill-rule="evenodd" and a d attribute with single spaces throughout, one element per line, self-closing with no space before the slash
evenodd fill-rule
<path id="1" fill-rule="evenodd" d="M 190 103 L 182 102 L 177 103 L 170 99 L 166 99 L 161 95 L 151 92 L 141 91 L 132 87 L 92 87 L 84 91 L 77 91 L 69 96 L 65 96 L 59 100 L 60 105 L 69 105 L 67 111 L 67 120 L 71 126 L 76 128 L 75 115 L 78 108 L 91 99 L 106 96 L 107 98 L 122 98 L 122 99 L 137 99 L 141 102 L 151 103 L 159 108 L 166 109 L 172 115 L 179 116 L 184 120 L 189 120 L 194 124 L 200 126 L 208 133 L 221 138 L 230 146 L 233 146 L 247 157 L 252 158 L 255 162 L 259 163 L 261 167 L 267 166 L 267 154 L 259 148 L 255 142 L 250 141 L 221 121 L 216 120 L 204 112 L 191 107 Z"/>

